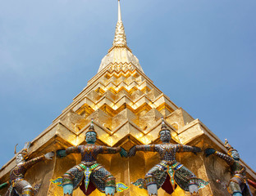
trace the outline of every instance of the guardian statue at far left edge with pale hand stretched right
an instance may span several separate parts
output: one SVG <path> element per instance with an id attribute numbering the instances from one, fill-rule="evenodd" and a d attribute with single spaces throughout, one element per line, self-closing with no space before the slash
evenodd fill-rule
<path id="1" fill-rule="evenodd" d="M 16 167 L 14 167 L 11 170 L 10 180 L 8 182 L 10 184 L 10 187 L 7 190 L 7 193 L 5 194 L 6 196 L 35 195 L 39 189 L 39 187 L 34 187 L 33 189 L 30 183 L 27 180 L 25 180 L 24 178 L 25 172 L 34 164 L 39 163 L 44 159 L 52 159 L 54 156 L 54 153 L 50 152 L 48 154 L 44 154 L 37 158 L 28 160 L 29 148 L 30 148 L 30 142 L 27 142 L 25 144 L 25 147 L 21 150 L 21 153 L 16 155 Z M 15 154 L 16 154 L 16 149 L 15 149 Z M 7 183 L 5 183 L 5 185 L 7 185 Z"/>

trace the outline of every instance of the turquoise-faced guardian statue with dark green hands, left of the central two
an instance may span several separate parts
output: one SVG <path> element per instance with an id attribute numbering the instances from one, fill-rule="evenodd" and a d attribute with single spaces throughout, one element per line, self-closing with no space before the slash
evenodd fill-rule
<path id="1" fill-rule="evenodd" d="M 103 145 L 95 145 L 97 140 L 97 132 L 94 131 L 94 123 L 92 121 L 89 131 L 85 134 L 86 145 L 70 147 L 64 150 L 57 150 L 57 157 L 65 157 L 68 154 L 81 154 L 82 162 L 62 176 L 62 187 L 64 195 L 72 195 L 73 190 L 80 186 L 80 189 L 89 195 L 98 189 L 106 195 L 114 195 L 121 189 L 128 189 L 126 185 L 117 183 L 112 174 L 107 171 L 101 164 L 97 163 L 98 154 L 117 154 L 121 157 L 127 157 L 127 152 L 121 147 L 112 148 Z M 53 180 L 56 183 L 57 180 Z"/>

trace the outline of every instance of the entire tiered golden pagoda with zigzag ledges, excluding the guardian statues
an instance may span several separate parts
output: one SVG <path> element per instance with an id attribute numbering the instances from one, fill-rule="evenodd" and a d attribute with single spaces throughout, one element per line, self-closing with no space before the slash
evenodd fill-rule
<path id="1" fill-rule="evenodd" d="M 121 146 L 129 150 L 133 145 L 148 145 L 160 142 L 158 131 L 161 118 L 171 130 L 172 142 L 183 145 L 196 145 L 202 149 L 212 147 L 226 153 L 224 143 L 199 119 L 194 119 L 184 109 L 175 105 L 158 87 L 154 86 L 139 65 L 139 60 L 127 46 L 126 33 L 121 20 L 121 8 L 118 1 L 118 20 L 112 47 L 103 57 L 98 73 L 91 78 L 87 86 L 73 99 L 53 123 L 33 141 L 30 158 L 49 151 L 66 149 L 70 146 L 85 144 L 85 132 L 88 131 L 91 118 L 94 118 L 95 131 L 98 132 L 98 144 Z M 177 154 L 176 159 L 210 184 L 200 189 L 203 196 L 229 195 L 217 183 L 228 183 L 230 171 L 226 163 L 216 157 L 205 158 L 203 153 Z M 25 178 L 31 185 L 41 184 L 39 196 L 62 196 L 62 188 L 50 182 L 80 163 L 80 154 L 70 154 L 65 158 L 53 158 L 31 167 Z M 101 155 L 98 163 L 103 164 L 117 182 L 129 185 L 129 189 L 116 195 L 144 196 L 145 189 L 131 185 L 138 178 L 144 177 L 153 165 L 158 163 L 155 153 L 138 152 L 135 157 L 121 158 L 119 154 Z M 247 167 L 247 176 L 256 180 L 256 173 Z M 9 173 L 16 166 L 15 157 L 5 164 L 0 171 L 0 180 L 8 180 Z M 256 195 L 256 189 L 251 188 Z M 7 191 L 2 189 L 0 194 Z M 169 195 L 158 190 L 159 195 Z M 76 189 L 75 196 L 84 195 Z M 97 189 L 91 195 L 104 195 Z M 177 187 L 171 195 L 190 195 Z"/>

